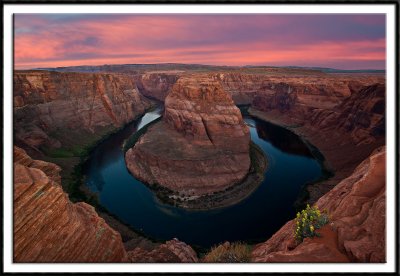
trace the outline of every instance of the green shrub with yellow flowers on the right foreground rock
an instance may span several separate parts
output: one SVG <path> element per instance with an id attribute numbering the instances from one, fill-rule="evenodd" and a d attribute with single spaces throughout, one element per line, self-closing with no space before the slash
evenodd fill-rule
<path id="1" fill-rule="evenodd" d="M 296 216 L 296 228 L 294 232 L 296 241 L 302 242 L 307 237 L 318 237 L 319 234 L 316 230 L 328 222 L 329 216 L 327 211 L 321 212 L 317 206 L 310 207 L 307 204 L 307 208 L 298 212 Z"/>

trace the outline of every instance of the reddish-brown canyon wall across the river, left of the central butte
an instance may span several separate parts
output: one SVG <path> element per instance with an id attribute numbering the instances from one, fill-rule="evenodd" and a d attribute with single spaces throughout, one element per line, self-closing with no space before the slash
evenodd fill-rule
<path id="1" fill-rule="evenodd" d="M 17 144 L 61 147 L 62 133 L 90 135 L 132 121 L 150 106 L 133 78 L 122 74 L 14 73 L 14 129 Z M 64 136 L 64 137 L 63 137 Z"/>

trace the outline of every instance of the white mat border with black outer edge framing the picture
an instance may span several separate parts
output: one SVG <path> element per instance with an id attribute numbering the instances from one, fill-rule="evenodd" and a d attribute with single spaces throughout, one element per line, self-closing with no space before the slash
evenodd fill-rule
<path id="1" fill-rule="evenodd" d="M 13 13 L 385 13 L 387 89 L 387 263 L 385 264 L 14 264 L 12 262 Z M 395 5 L 4 5 L 4 272 L 394 272 L 395 271 Z"/>

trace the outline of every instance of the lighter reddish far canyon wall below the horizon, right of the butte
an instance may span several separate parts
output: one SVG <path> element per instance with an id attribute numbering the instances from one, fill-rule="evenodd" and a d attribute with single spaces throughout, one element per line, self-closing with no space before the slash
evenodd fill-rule
<path id="1" fill-rule="evenodd" d="M 257 103 L 258 100 L 254 99 L 264 96 L 269 104 L 263 105 L 264 108 L 281 108 L 282 111 L 288 104 L 330 108 L 350 96 L 353 91 L 358 91 L 366 85 L 384 82 L 384 78 L 378 76 L 326 74 L 314 70 L 292 72 L 283 68 L 261 73 L 226 72 L 215 76 L 232 95 L 236 104 L 252 104 L 253 101 Z"/>

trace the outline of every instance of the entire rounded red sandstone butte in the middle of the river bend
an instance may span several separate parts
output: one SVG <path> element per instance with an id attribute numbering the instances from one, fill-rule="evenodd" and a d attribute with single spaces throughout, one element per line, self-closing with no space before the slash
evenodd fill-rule
<path id="1" fill-rule="evenodd" d="M 250 135 L 218 81 L 182 77 L 165 101 L 162 122 L 126 153 L 130 172 L 185 195 L 224 190 L 248 173 Z"/>

